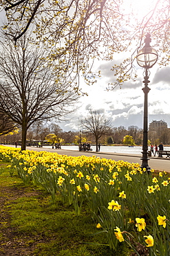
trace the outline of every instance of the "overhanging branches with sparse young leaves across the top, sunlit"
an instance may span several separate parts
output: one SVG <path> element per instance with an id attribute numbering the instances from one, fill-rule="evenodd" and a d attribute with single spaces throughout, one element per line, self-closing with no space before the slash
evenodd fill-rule
<path id="1" fill-rule="evenodd" d="M 93 77 L 88 73 L 91 58 L 103 56 L 105 60 L 112 60 L 113 53 L 133 50 L 128 59 L 113 66 L 115 75 L 118 75 L 115 84 L 121 85 L 127 79 L 136 78 L 133 63 L 147 32 L 151 33 L 163 53 L 160 64 L 170 61 L 169 1 L 147 3 L 142 16 L 138 15 L 139 10 L 135 12 L 133 1 L 128 1 L 126 6 L 125 3 L 125 0 L 3 0 L 0 7 L 6 10 L 7 22 L 3 28 L 15 42 L 32 25 L 36 44 L 43 41 L 47 47 L 53 48 L 52 61 L 58 61 L 60 73 L 76 70 L 75 76 L 78 77 L 82 71 L 87 82 L 89 76 Z M 16 27 L 16 23 L 19 26 Z M 76 89 L 76 83 L 74 85 Z"/>

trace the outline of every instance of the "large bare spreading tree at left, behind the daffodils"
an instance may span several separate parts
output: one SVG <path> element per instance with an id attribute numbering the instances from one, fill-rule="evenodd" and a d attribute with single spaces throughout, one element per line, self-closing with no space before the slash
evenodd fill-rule
<path id="1" fill-rule="evenodd" d="M 69 83 L 59 82 L 47 66 L 46 52 L 25 37 L 3 42 L 0 56 L 0 111 L 22 127 L 21 149 L 28 128 L 37 121 L 62 118 L 70 113 L 78 95 Z"/>

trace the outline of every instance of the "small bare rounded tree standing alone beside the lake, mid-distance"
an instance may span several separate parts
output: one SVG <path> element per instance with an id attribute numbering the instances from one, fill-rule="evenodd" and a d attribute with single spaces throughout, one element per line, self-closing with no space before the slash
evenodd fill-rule
<path id="1" fill-rule="evenodd" d="M 98 139 L 110 132 L 110 120 L 105 119 L 105 116 L 100 114 L 99 111 L 90 110 L 89 115 L 81 119 L 80 123 L 83 129 L 94 135 L 96 140 L 96 152 L 98 152 Z"/>

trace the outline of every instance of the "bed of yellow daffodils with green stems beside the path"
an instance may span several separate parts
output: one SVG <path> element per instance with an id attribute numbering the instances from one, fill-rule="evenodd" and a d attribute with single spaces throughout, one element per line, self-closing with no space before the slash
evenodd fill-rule
<path id="1" fill-rule="evenodd" d="M 148 174 L 138 163 L 96 156 L 21 152 L 3 146 L 0 157 L 11 162 L 11 175 L 17 170 L 25 184 L 41 185 L 54 203 L 60 193 L 76 214 L 86 203 L 111 249 L 126 241 L 135 255 L 170 255 L 170 178 L 165 172 Z"/>

